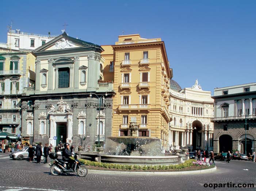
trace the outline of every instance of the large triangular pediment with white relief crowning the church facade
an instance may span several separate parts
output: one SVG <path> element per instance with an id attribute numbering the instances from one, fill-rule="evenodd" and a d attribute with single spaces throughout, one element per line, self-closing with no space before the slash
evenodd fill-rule
<path id="1" fill-rule="evenodd" d="M 42 51 L 53 51 L 53 50 L 81 48 L 81 47 L 96 48 L 96 49 L 99 49 L 100 52 L 103 51 L 103 48 L 97 44 L 85 42 L 78 38 L 73 38 L 71 36 L 68 36 L 66 32 L 64 32 L 63 34 L 47 42 L 43 46 L 38 47 L 33 52 L 37 53 Z"/>

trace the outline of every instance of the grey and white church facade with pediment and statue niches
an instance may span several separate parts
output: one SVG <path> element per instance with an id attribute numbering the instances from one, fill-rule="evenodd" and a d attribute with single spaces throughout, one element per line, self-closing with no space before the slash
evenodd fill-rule
<path id="1" fill-rule="evenodd" d="M 22 96 L 22 139 L 75 147 L 111 136 L 113 84 L 104 82 L 103 48 L 65 32 L 33 51 L 35 87 Z"/>

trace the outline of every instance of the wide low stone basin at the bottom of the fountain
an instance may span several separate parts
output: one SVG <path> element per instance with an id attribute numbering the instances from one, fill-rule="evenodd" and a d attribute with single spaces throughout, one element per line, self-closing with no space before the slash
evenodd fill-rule
<path id="1" fill-rule="evenodd" d="M 119 156 L 100 155 L 103 163 L 137 164 L 137 165 L 168 165 L 179 163 L 178 156 Z"/>

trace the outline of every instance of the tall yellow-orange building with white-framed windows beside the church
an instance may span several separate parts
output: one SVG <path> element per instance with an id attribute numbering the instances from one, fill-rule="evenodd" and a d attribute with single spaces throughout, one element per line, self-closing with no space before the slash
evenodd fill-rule
<path id="1" fill-rule="evenodd" d="M 164 42 L 139 34 L 121 35 L 102 46 L 104 80 L 114 80 L 113 136 L 157 137 L 167 146 L 169 68 Z"/>

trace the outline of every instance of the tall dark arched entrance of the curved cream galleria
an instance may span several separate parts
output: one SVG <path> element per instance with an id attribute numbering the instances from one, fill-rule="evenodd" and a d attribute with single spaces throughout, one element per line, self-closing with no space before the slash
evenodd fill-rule
<path id="1" fill-rule="evenodd" d="M 193 129 L 193 140 L 192 146 L 193 151 L 202 147 L 202 129 L 203 125 L 200 121 L 192 122 L 192 129 Z"/>

